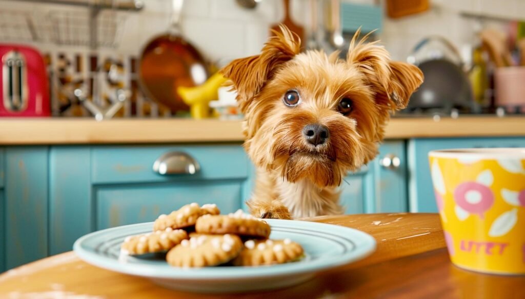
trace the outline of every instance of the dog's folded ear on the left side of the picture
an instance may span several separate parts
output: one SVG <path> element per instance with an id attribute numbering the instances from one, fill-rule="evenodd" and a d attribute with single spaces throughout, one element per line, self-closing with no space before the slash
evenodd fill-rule
<path id="1" fill-rule="evenodd" d="M 237 101 L 243 112 L 279 67 L 300 51 L 301 39 L 285 25 L 279 28 L 281 32 L 273 31 L 274 36 L 268 39 L 259 55 L 236 59 L 220 70 L 233 81 Z"/>

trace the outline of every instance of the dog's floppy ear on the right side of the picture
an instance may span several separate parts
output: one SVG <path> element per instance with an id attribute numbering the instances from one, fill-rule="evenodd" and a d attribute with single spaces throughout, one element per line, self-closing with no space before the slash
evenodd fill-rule
<path id="1" fill-rule="evenodd" d="M 360 30 L 350 43 L 346 61 L 356 65 L 376 93 L 376 101 L 392 110 L 403 109 L 412 93 L 423 83 L 423 72 L 415 65 L 392 61 L 390 54 L 376 42 L 365 43 L 368 35 L 357 41 Z"/>

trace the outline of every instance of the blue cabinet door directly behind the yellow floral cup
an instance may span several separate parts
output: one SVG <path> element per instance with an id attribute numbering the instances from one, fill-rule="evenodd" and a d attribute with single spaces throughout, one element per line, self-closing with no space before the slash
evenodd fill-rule
<path id="1" fill-rule="evenodd" d="M 429 151 L 487 147 L 525 147 L 525 138 L 443 138 L 409 140 L 410 212 L 437 212 L 432 178 L 430 178 Z"/>

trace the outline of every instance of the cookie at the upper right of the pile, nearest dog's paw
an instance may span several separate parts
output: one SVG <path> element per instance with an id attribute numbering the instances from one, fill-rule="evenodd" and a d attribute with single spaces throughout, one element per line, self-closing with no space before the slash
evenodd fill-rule
<path id="1" fill-rule="evenodd" d="M 239 209 L 228 215 L 205 215 L 198 218 L 195 231 L 199 234 L 234 234 L 268 238 L 271 228 L 264 220 Z"/>

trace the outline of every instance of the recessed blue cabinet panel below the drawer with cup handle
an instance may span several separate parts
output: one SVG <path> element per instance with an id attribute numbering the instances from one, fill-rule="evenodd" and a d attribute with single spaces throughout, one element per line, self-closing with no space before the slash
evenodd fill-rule
<path id="1" fill-rule="evenodd" d="M 151 222 L 185 204 L 217 204 L 222 214 L 241 207 L 239 181 L 184 182 L 169 186 L 106 187 L 96 192 L 97 229 Z"/>

